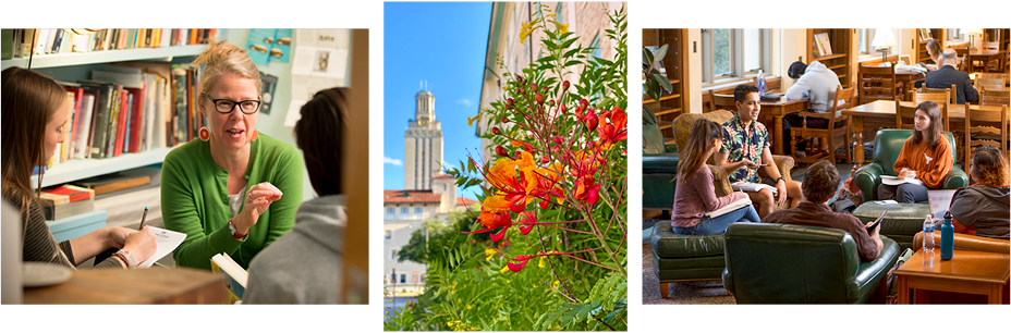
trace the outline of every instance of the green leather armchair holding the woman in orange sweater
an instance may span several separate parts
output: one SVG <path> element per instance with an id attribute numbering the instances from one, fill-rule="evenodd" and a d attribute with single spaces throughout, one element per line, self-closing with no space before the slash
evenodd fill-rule
<path id="1" fill-rule="evenodd" d="M 954 136 L 951 132 L 945 132 L 948 135 L 948 141 L 952 143 L 951 159 L 959 160 L 959 155 L 954 147 Z M 872 163 L 861 166 L 853 176 L 856 186 L 863 194 L 864 202 L 875 200 L 877 197 L 878 185 L 881 184 L 881 175 L 897 176 L 894 165 L 902 151 L 905 140 L 913 135 L 913 130 L 881 130 L 874 136 L 874 158 Z M 941 187 L 943 189 L 957 189 L 969 186 L 969 176 L 958 164 L 951 168 Z"/>

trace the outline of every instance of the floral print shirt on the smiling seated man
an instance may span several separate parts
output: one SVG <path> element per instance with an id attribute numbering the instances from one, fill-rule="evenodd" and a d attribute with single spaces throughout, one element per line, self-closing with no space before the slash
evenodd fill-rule
<path id="1" fill-rule="evenodd" d="M 720 152 L 727 153 L 727 162 L 735 163 L 748 159 L 755 164 L 762 164 L 762 152 L 769 147 L 769 131 L 765 125 L 753 121 L 750 128 L 736 114 L 723 123 L 723 147 Z M 758 183 L 758 169 L 741 168 L 730 173 L 730 182 Z"/>

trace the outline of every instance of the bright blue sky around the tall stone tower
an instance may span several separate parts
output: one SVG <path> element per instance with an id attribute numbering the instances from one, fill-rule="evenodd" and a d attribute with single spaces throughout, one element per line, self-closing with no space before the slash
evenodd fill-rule
<path id="1" fill-rule="evenodd" d="M 404 187 L 404 130 L 422 81 L 436 98 L 446 163 L 480 149 L 467 116 L 477 114 L 490 17 L 490 2 L 383 3 L 382 188 Z M 458 195 L 476 198 L 477 190 Z"/>

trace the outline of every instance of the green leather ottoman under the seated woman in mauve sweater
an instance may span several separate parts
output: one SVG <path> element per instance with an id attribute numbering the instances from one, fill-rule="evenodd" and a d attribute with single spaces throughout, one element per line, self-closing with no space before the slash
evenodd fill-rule
<path id="1" fill-rule="evenodd" d="M 723 234 L 689 236 L 671 231 L 670 222 L 659 222 L 649 237 L 653 272 L 660 281 L 660 297 L 667 298 L 668 283 L 720 280 L 723 260 Z"/>

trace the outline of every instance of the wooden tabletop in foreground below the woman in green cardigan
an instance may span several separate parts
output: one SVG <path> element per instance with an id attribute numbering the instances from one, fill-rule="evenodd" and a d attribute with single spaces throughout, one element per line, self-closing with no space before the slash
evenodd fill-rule
<path id="1" fill-rule="evenodd" d="M 224 278 L 188 268 L 77 270 L 62 284 L 26 288 L 25 304 L 223 304 Z"/>

